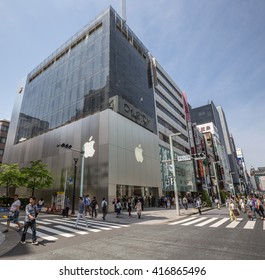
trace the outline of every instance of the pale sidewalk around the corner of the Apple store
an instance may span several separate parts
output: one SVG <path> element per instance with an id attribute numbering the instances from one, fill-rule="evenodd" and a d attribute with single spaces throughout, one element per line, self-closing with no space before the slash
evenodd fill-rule
<path id="1" fill-rule="evenodd" d="M 211 210 L 213 208 L 203 208 L 202 212 Z M 190 215 L 198 214 L 198 210 L 191 207 L 188 210 L 180 209 L 180 215 L 177 215 L 176 208 L 165 209 L 165 208 L 145 208 L 142 212 L 142 216 L 140 219 L 137 218 L 136 211 L 132 212 L 132 218 L 128 217 L 128 212 L 126 210 L 122 211 L 121 217 L 117 218 L 116 213 L 108 213 L 106 216 L 106 222 L 112 223 L 120 223 L 120 224 L 139 224 L 139 225 L 156 225 L 161 223 L 167 223 L 170 221 L 174 221 L 176 219 L 181 219 Z M 40 216 L 49 216 L 52 214 L 40 213 Z M 58 215 L 59 216 L 59 215 Z M 20 211 L 20 221 L 23 221 L 25 217 L 25 211 Z M 61 216 L 60 216 L 61 217 Z M 70 217 L 76 217 L 73 215 Z M 87 216 L 88 220 L 92 219 L 91 216 Z M 62 218 L 63 219 L 63 218 Z M 93 219 L 94 221 L 102 222 L 102 213 L 98 214 L 98 217 Z M 6 219 L 0 217 L 0 222 L 5 222 Z M 3 234 L 2 231 L 6 228 L 6 226 L 0 223 L 0 257 L 14 248 L 20 241 L 21 234 L 18 233 L 15 229 L 10 227 L 10 230 L 7 234 Z"/>

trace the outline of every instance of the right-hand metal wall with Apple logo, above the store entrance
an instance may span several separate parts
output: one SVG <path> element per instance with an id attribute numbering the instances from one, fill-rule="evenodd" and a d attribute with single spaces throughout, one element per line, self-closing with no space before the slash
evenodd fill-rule
<path id="1" fill-rule="evenodd" d="M 117 178 L 109 174 L 109 183 L 159 187 L 161 179 L 157 135 L 113 111 L 109 111 L 109 121 L 109 130 L 117 132 L 117 137 L 110 137 L 109 142 L 109 170 L 113 170 Z"/>

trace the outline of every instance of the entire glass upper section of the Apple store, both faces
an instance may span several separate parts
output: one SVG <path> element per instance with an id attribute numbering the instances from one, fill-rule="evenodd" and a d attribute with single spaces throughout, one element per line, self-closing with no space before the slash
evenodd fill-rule
<path id="1" fill-rule="evenodd" d="M 108 10 L 28 75 L 15 143 L 113 103 L 114 111 L 156 133 L 148 61 L 147 49 Z"/>

